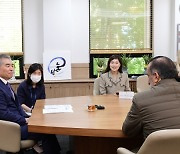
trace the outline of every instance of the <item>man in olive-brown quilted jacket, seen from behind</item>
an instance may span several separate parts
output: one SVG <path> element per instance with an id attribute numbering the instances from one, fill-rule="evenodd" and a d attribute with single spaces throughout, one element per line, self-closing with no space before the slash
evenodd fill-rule
<path id="1" fill-rule="evenodd" d="M 150 90 L 137 93 L 123 123 L 128 136 L 144 136 L 163 129 L 180 129 L 180 82 L 173 61 L 158 56 L 147 68 Z"/>

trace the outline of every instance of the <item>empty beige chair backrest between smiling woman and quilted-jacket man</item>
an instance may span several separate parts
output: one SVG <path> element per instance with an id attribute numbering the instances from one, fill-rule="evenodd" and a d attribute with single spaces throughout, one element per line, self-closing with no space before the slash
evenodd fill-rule
<path id="1" fill-rule="evenodd" d="M 136 80 L 137 92 L 142 92 L 150 89 L 150 85 L 148 84 L 148 76 L 141 75 Z"/>

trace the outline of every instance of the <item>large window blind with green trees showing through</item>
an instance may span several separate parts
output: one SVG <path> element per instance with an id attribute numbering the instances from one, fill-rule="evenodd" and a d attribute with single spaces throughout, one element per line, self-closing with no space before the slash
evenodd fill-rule
<path id="1" fill-rule="evenodd" d="M 93 50 L 152 50 L 151 0 L 90 0 Z"/>

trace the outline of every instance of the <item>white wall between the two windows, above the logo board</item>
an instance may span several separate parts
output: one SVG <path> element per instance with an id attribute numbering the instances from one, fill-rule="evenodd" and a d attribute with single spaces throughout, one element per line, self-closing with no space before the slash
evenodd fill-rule
<path id="1" fill-rule="evenodd" d="M 25 0 L 24 10 L 25 64 L 64 50 L 72 63 L 89 63 L 88 0 Z"/>

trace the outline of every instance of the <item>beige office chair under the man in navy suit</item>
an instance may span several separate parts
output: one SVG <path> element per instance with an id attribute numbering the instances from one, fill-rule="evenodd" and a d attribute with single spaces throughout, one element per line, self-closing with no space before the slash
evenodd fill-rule
<path id="1" fill-rule="evenodd" d="M 0 150 L 17 153 L 21 149 L 31 148 L 34 145 L 33 140 L 21 140 L 19 124 L 0 120 Z"/>

